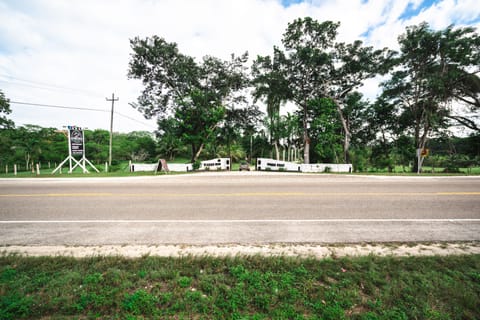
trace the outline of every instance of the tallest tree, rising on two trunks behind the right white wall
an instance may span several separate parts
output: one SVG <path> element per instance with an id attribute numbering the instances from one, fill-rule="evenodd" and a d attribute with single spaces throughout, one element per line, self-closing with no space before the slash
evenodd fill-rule
<path id="1" fill-rule="evenodd" d="M 336 107 L 344 135 L 343 160 L 349 162 L 351 132 L 345 115 L 346 99 L 363 81 L 385 72 L 384 63 L 391 52 L 335 42 L 339 23 L 319 23 L 312 18 L 297 19 L 288 24 L 282 39 L 287 50 L 287 79 L 293 101 L 303 113 L 304 161 L 309 163 L 309 101 L 331 99 Z"/>

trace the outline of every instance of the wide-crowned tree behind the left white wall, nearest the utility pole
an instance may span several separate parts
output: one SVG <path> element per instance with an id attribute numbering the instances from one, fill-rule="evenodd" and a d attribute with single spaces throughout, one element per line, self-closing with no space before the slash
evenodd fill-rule
<path id="1" fill-rule="evenodd" d="M 197 63 L 180 53 L 176 43 L 157 36 L 137 37 L 130 43 L 133 54 L 128 76 L 141 79 L 145 86 L 133 106 L 147 117 L 174 117 L 195 161 L 227 114 L 225 110 L 242 100 L 235 93 L 247 83 L 243 65 L 248 54 L 232 55 L 231 61 L 206 56 Z"/>

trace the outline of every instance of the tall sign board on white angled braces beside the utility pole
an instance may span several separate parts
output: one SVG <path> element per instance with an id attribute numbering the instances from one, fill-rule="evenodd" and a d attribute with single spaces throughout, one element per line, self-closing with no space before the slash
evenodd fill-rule
<path id="1" fill-rule="evenodd" d="M 85 156 L 85 134 L 83 129 L 76 126 L 68 126 L 68 157 L 65 158 L 53 171 L 52 174 L 61 170 L 62 166 L 68 161 L 69 168 L 68 173 L 72 173 L 76 167 L 83 169 L 83 173 L 90 173 L 85 166 L 88 163 L 96 172 L 99 172 L 97 168 L 87 159 Z M 81 156 L 80 161 L 75 159 L 74 156 Z M 73 162 L 75 163 L 72 166 Z"/>

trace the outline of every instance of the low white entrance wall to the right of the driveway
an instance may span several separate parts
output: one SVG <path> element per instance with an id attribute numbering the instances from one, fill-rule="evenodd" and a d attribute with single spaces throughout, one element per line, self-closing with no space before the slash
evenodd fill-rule
<path id="1" fill-rule="evenodd" d="M 352 165 L 337 163 L 299 164 L 268 158 L 257 158 L 255 169 L 257 171 L 352 172 Z"/>

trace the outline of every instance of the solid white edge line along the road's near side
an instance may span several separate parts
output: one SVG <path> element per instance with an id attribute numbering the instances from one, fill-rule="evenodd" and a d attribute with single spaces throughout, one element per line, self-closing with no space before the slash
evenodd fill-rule
<path id="1" fill-rule="evenodd" d="M 346 223 L 346 222 L 480 222 L 480 219 L 245 219 L 245 220 L 3 220 L 0 224 L 221 224 L 221 223 Z"/>

